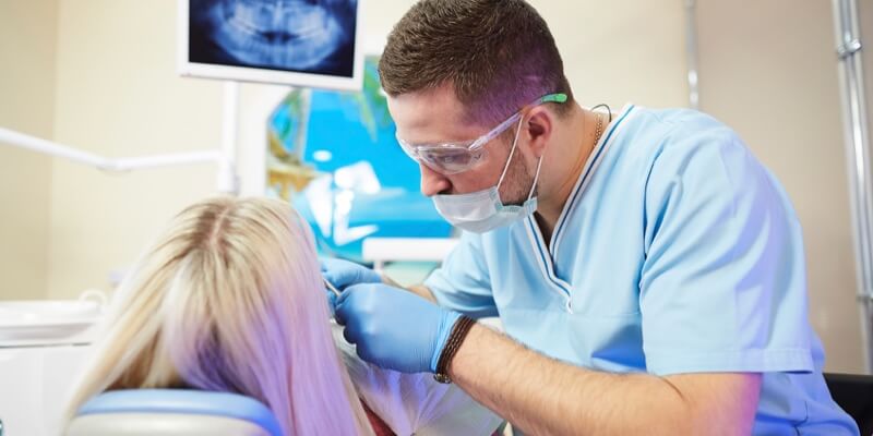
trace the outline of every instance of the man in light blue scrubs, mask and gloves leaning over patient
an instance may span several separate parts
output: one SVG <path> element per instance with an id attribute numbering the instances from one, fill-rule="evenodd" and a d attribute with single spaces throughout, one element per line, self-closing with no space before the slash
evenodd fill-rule
<path id="1" fill-rule="evenodd" d="M 794 211 L 730 129 L 583 109 L 523 0 L 417 3 L 380 74 L 421 191 L 464 232 L 410 290 L 325 263 L 361 358 L 531 434 L 858 434 L 822 377 Z"/>

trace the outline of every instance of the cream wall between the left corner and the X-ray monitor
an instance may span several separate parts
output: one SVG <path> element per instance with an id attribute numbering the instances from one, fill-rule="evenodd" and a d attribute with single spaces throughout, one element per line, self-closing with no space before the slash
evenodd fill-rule
<path id="1" fill-rule="evenodd" d="M 55 140 L 110 157 L 218 147 L 222 85 L 175 73 L 175 1 L 61 1 Z M 107 288 L 184 205 L 208 195 L 210 165 L 105 174 L 56 161 L 52 298 Z"/>

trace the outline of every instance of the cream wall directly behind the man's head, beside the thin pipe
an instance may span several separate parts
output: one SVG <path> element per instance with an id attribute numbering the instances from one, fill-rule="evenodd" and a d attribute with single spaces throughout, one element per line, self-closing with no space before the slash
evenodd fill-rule
<path id="1" fill-rule="evenodd" d="M 681 0 L 528 1 L 549 23 L 582 105 L 686 105 Z M 415 1 L 369 4 L 367 32 L 384 38 Z"/>

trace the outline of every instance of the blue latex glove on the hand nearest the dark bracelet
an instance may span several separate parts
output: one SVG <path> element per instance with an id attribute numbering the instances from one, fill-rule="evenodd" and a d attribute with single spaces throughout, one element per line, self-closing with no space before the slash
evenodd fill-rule
<path id="1" fill-rule="evenodd" d="M 402 373 L 436 372 L 440 354 L 461 314 L 409 291 L 364 283 L 346 289 L 336 302 L 343 336 L 358 355 Z"/>

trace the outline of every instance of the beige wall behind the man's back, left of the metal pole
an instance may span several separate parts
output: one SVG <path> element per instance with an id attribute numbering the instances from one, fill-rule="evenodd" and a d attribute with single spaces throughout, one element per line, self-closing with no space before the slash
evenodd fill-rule
<path id="1" fill-rule="evenodd" d="M 824 341 L 826 367 L 860 372 L 830 3 L 697 3 L 701 107 L 733 126 L 784 183 L 803 225 L 810 318 Z"/>

